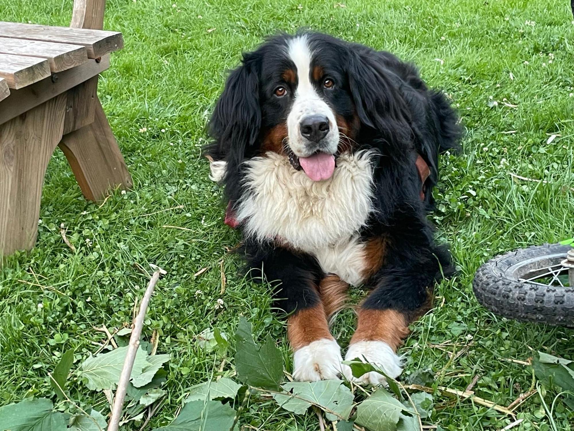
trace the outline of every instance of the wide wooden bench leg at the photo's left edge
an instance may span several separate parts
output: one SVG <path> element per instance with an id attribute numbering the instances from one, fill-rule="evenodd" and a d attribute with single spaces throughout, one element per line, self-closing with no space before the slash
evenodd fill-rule
<path id="1" fill-rule="evenodd" d="M 46 167 L 64 128 L 61 94 L 0 125 L 0 256 L 36 242 Z"/>

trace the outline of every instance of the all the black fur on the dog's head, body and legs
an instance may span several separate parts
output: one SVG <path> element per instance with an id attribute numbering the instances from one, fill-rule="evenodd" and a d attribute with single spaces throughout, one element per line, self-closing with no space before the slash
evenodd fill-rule
<path id="1" fill-rule="evenodd" d="M 215 107 L 209 128 L 214 141 L 206 152 L 227 161 L 224 184 L 231 202 L 249 193 L 242 187 L 242 162 L 261 152 L 266 130 L 285 122 L 289 106 L 270 96 L 269 88 L 292 64 L 285 55 L 290 37 L 272 37 L 245 54 Z M 426 212 L 439 178 L 439 153 L 459 148 L 457 116 L 445 95 L 429 90 L 412 64 L 324 34 L 308 37 L 317 63 L 339 83 L 340 90 L 325 94 L 329 105 L 347 120 L 354 115 L 360 120 L 354 151 L 370 148 L 379 153 L 374 163 L 375 211 L 361 234 L 366 240 L 384 236 L 389 247 L 385 264 L 369 280 L 374 292 L 363 306 L 397 309 L 414 317 L 428 302 L 435 281 L 452 272 L 449 253 L 435 244 Z M 417 154 L 430 168 L 422 202 Z M 262 268 L 267 280 L 280 283 L 277 305 L 288 313 L 317 303 L 315 287 L 324 274 L 314 257 L 249 238 L 245 257 L 250 268 Z"/>

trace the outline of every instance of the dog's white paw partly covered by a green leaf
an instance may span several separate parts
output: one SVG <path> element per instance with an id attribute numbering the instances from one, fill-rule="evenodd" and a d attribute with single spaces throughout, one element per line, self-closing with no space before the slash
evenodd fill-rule
<path id="1" fill-rule="evenodd" d="M 345 355 L 345 360 L 351 361 L 359 358 L 363 362 L 369 362 L 381 368 L 382 371 L 396 379 L 402 372 L 402 360 L 391 349 L 391 347 L 384 341 L 359 341 L 358 343 L 351 344 Z M 386 384 L 385 376 L 378 372 L 371 371 L 363 374 L 359 378 L 355 378 L 351 374 L 350 368 L 344 370 L 345 376 L 348 380 L 352 380 L 358 384 Z"/>

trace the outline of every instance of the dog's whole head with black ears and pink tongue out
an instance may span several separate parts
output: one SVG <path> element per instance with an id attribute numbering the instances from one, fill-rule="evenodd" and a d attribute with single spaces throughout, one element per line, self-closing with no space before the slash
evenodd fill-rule
<path id="1" fill-rule="evenodd" d="M 211 120 L 227 169 L 268 151 L 312 180 L 331 178 L 362 127 L 382 129 L 393 106 L 380 64 L 324 34 L 276 36 L 243 56 Z M 377 93 L 375 97 L 373 93 Z M 225 154 L 223 154 L 223 152 Z"/>

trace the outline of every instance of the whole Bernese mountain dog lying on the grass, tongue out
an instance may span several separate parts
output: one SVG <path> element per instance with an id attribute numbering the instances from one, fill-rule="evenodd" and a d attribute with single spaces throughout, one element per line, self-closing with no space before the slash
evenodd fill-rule
<path id="1" fill-rule="evenodd" d="M 438 155 L 461 136 L 445 95 L 389 52 L 280 34 L 243 54 L 208 131 L 226 222 L 287 315 L 293 378 L 385 383 L 376 372 L 354 379 L 329 330 L 349 284 L 371 292 L 344 357 L 400 375 L 409 323 L 452 272 L 426 219 Z"/>

